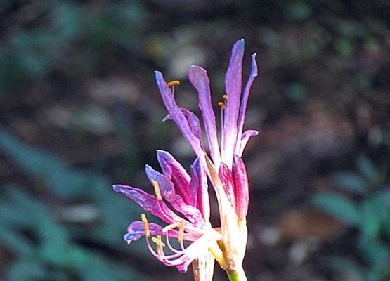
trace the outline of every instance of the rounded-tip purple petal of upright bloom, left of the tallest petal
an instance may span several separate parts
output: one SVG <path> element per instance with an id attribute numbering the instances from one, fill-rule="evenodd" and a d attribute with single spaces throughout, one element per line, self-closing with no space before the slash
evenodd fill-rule
<path id="1" fill-rule="evenodd" d="M 207 71 L 202 67 L 193 65 L 188 72 L 191 84 L 197 89 L 199 97 L 199 108 L 202 112 L 204 129 L 207 134 L 207 141 L 209 142 L 210 152 L 214 164 L 221 161 L 219 152 L 218 139 L 216 136 L 215 115 L 212 107 L 212 97 L 210 94 L 210 81 L 207 76 Z"/>

